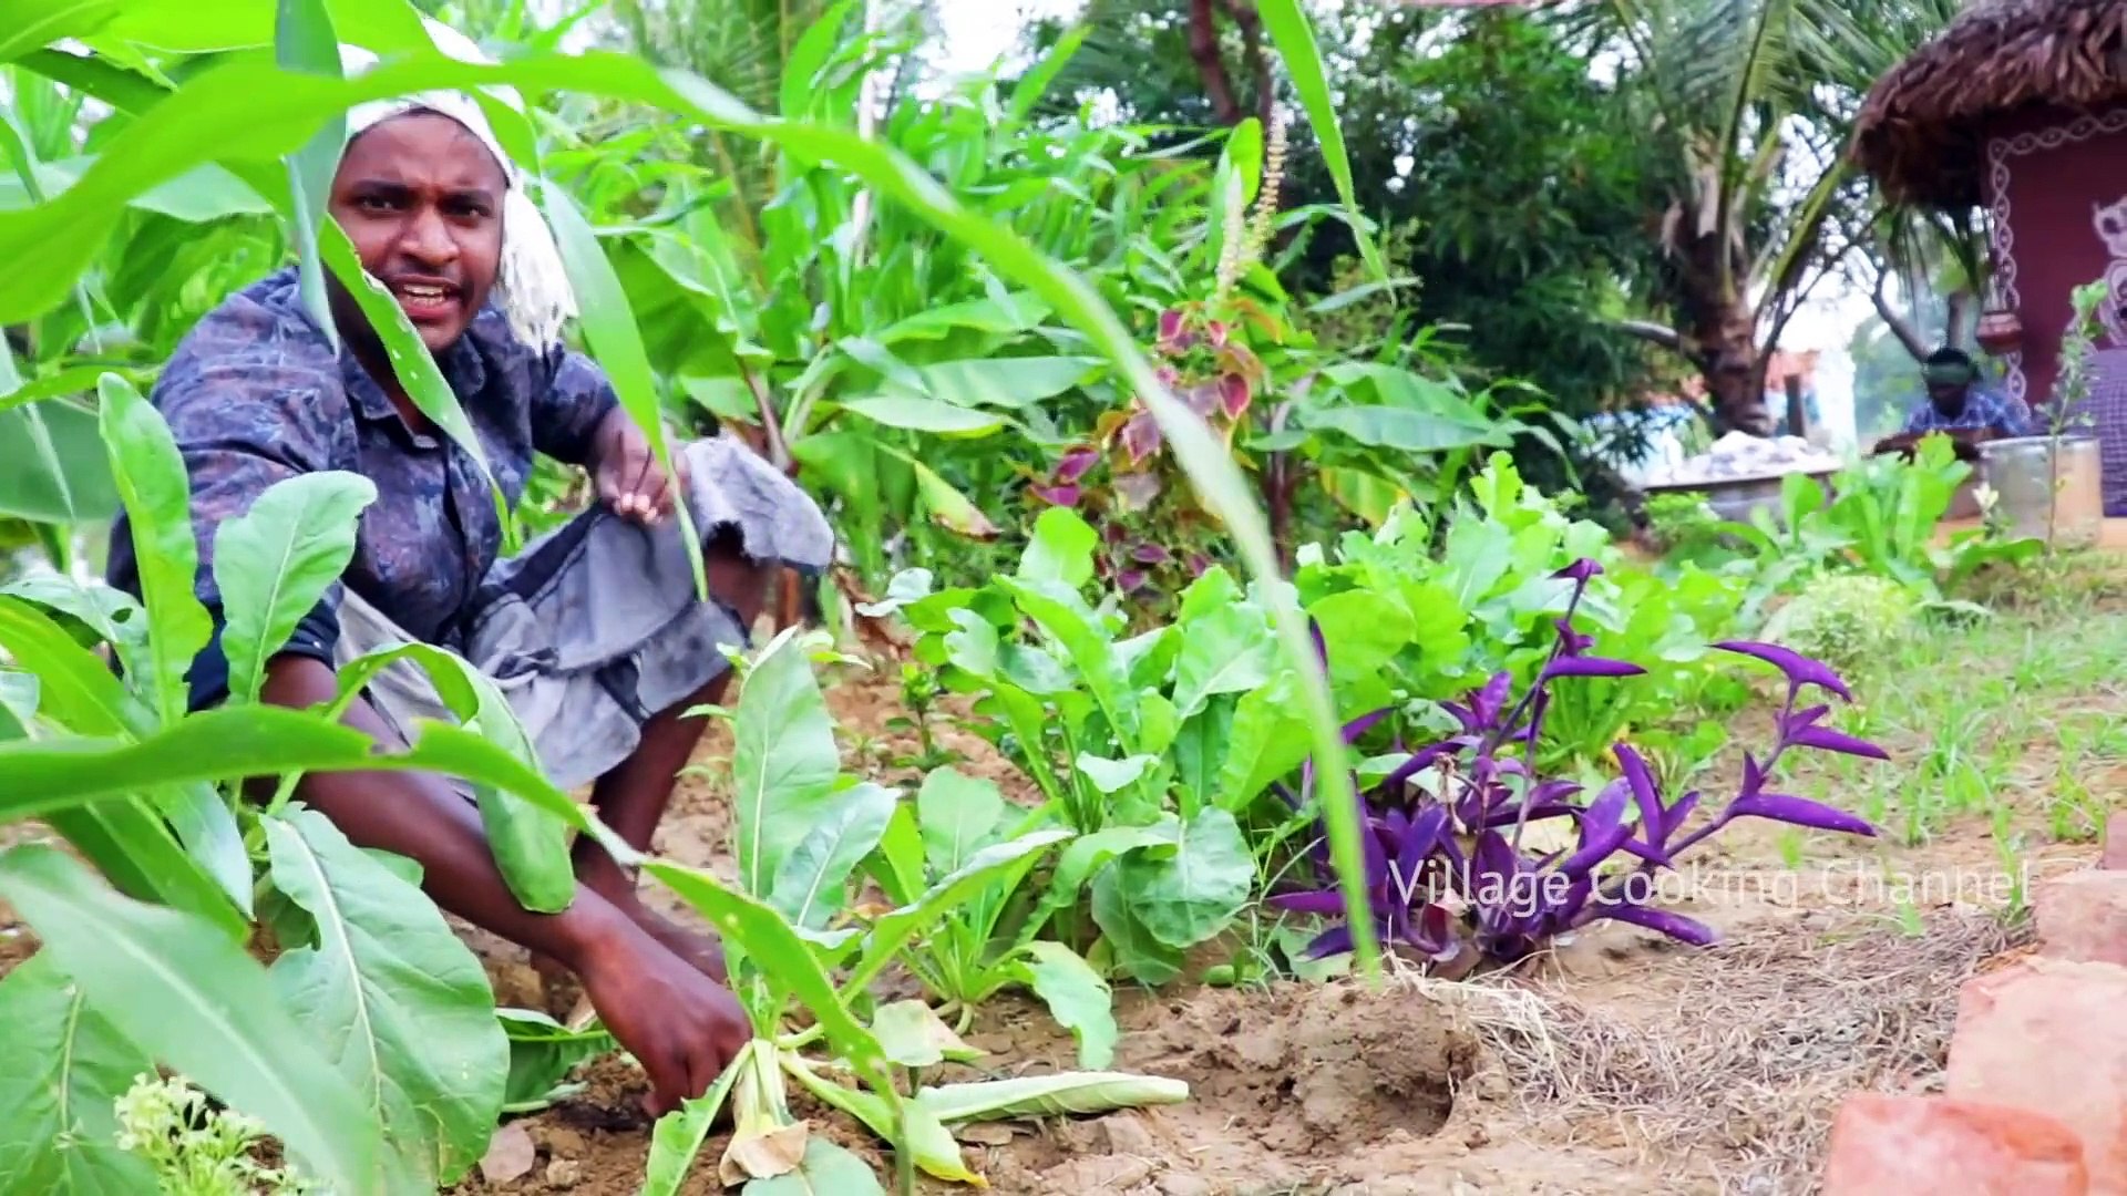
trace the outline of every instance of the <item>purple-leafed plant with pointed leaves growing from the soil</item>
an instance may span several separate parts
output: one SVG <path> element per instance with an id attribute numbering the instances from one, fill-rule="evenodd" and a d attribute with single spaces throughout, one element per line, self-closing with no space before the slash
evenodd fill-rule
<path id="1" fill-rule="evenodd" d="M 1708 945 L 1714 941 L 1708 926 L 1646 904 L 1653 896 L 1651 877 L 1693 845 L 1738 817 L 1876 834 L 1850 813 L 1768 790 L 1780 758 L 1795 747 L 1887 760 L 1880 747 L 1825 726 L 1829 704 L 1802 704 L 1810 690 L 1853 702 L 1831 668 L 1768 643 L 1714 645 L 1776 666 L 1787 675 L 1787 702 L 1772 751 L 1763 760 L 1744 753 L 1736 796 L 1695 830 L 1687 832 L 1685 824 L 1704 804 L 1699 794 L 1670 800 L 1629 745 L 1614 747 L 1621 775 L 1593 800 L 1578 800 L 1578 783 L 1536 777 L 1529 762 L 1538 758 L 1553 683 L 1644 672 L 1623 660 L 1589 655 L 1593 641 L 1574 630 L 1580 596 L 1597 572 L 1600 566 L 1587 560 L 1559 572 L 1559 579 L 1574 585 L 1572 600 L 1557 621 L 1551 658 L 1519 700 L 1510 677 L 1500 672 L 1463 702 L 1446 707 L 1461 724 L 1459 734 L 1414 751 L 1372 792 L 1353 785 L 1366 830 L 1361 847 L 1368 900 L 1387 945 L 1410 947 L 1436 962 L 1455 960 L 1468 949 L 1478 958 L 1514 962 L 1540 949 L 1546 938 L 1600 917 Z M 1321 632 L 1314 645 L 1317 651 L 1323 649 Z M 1387 713 L 1355 719 L 1344 728 L 1344 741 L 1355 743 Z M 1302 770 L 1297 794 L 1280 792 L 1295 809 L 1312 804 L 1312 762 Z M 1572 849 L 1538 853 L 1521 845 L 1531 821 L 1559 817 L 1578 824 Z M 1317 873 L 1329 877 L 1327 834 L 1317 836 L 1310 856 Z M 1268 900 L 1295 913 L 1344 915 L 1344 898 L 1334 883 L 1272 894 Z M 1306 956 L 1319 960 L 1351 947 L 1351 928 L 1334 926 L 1308 945 Z"/>

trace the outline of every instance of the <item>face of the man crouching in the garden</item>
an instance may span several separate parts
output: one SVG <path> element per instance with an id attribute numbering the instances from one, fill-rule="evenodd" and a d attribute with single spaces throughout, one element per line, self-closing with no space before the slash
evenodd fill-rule
<path id="1" fill-rule="evenodd" d="M 362 268 L 391 289 L 430 353 L 449 349 L 502 268 L 502 164 L 466 126 L 406 113 L 349 143 L 328 209 Z M 334 285 L 334 319 L 368 330 Z"/>

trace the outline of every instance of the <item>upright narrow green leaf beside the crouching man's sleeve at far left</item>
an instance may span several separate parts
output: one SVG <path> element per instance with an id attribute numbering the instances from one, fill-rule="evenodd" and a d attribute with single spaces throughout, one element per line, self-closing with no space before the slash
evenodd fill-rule
<path id="1" fill-rule="evenodd" d="M 153 670 L 136 685 L 168 726 L 185 713 L 191 658 L 215 634 L 196 594 L 200 541 L 191 530 L 191 481 L 170 426 L 140 392 L 117 375 L 104 375 L 96 392 L 147 604 Z"/>

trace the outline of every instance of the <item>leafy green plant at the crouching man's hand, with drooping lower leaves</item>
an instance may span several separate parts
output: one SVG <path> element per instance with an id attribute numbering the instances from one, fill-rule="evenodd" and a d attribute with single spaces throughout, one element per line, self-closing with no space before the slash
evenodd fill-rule
<path id="1" fill-rule="evenodd" d="M 893 1143 L 904 1192 L 917 1168 L 938 1179 L 976 1179 L 951 1126 L 1185 1098 L 1187 1085 L 1178 1081 L 1102 1070 L 923 1083 L 925 1068 L 974 1062 L 981 1053 L 923 1002 L 876 1004 L 868 985 L 919 941 L 978 921 L 985 902 L 1072 834 L 1051 828 L 1006 836 L 995 826 L 981 828 L 981 802 L 995 794 L 972 790 L 951 770 L 932 773 L 915 807 L 893 790 L 842 777 L 834 724 L 813 675 L 813 660 L 832 655 L 821 641 L 817 632 L 787 630 L 740 662 L 742 690 L 730 715 L 738 881 L 666 860 L 642 862 L 723 930 L 734 992 L 757 1034 L 706 1098 L 659 1122 L 649 1187 L 676 1185 L 730 1100 L 738 1128 L 719 1164 L 725 1183 L 800 1175 L 817 1190 L 876 1192 L 861 1162 L 791 1117 L 785 1077 Z M 881 877 L 898 904 L 870 915 L 853 911 L 859 868 Z M 1029 951 L 1029 958 L 1046 964 L 1051 953 Z M 810 1017 L 808 1026 L 793 1024 L 800 1013 Z M 815 1043 L 830 1053 L 808 1058 Z M 855 1077 L 861 1087 L 838 1083 L 834 1073 Z M 906 1092 L 898 1085 L 904 1075 Z"/>

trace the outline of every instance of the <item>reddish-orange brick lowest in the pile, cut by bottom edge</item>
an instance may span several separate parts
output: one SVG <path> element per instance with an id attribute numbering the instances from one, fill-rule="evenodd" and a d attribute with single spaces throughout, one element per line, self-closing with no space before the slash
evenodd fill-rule
<path id="1" fill-rule="evenodd" d="M 1831 1124 L 1825 1196 L 1957 1192 L 2084 1196 L 2082 1141 L 2027 1109 L 1946 1096 L 1848 1096 Z"/>

